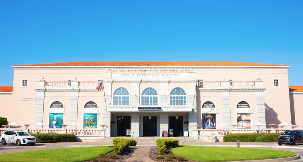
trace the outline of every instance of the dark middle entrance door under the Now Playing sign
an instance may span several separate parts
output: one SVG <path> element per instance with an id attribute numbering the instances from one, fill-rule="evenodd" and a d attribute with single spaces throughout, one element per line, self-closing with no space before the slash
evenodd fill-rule
<path id="1" fill-rule="evenodd" d="M 143 136 L 157 136 L 157 116 L 143 116 Z"/>

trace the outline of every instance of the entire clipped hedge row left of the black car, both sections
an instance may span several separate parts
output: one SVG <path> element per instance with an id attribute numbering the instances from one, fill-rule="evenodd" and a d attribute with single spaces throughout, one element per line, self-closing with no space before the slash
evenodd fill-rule
<path id="1" fill-rule="evenodd" d="M 281 133 L 235 133 L 223 136 L 223 142 L 277 142 Z"/>

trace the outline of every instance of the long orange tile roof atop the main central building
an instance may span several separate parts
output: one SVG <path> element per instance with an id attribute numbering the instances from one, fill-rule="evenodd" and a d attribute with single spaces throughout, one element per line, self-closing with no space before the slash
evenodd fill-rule
<path id="1" fill-rule="evenodd" d="M 48 64 L 27 64 L 18 66 L 289 66 L 281 64 L 260 64 L 241 62 L 65 62 Z"/>

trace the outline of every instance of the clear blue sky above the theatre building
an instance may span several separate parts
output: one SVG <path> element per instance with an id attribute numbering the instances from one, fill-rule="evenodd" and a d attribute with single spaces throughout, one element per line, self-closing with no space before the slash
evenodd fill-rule
<path id="1" fill-rule="evenodd" d="M 0 85 L 15 64 L 234 61 L 289 64 L 303 85 L 303 1 L 2 1 Z"/>

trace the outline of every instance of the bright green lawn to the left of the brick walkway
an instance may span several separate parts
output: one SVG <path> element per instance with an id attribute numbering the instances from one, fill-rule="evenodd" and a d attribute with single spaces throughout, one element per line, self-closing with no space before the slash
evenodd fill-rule
<path id="1" fill-rule="evenodd" d="M 74 147 L 61 149 L 46 149 L 36 151 L 26 151 L 18 153 L 8 153 L 0 155 L 0 161 L 20 161 L 20 162 L 70 162 L 84 161 L 98 157 L 100 153 L 108 153 L 112 151 L 110 146 L 94 146 L 94 147 Z"/>

